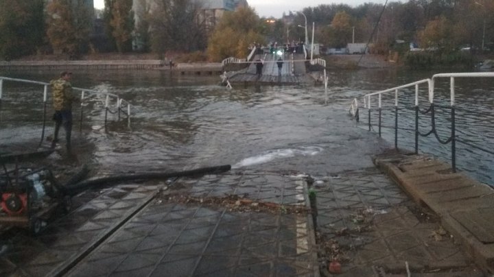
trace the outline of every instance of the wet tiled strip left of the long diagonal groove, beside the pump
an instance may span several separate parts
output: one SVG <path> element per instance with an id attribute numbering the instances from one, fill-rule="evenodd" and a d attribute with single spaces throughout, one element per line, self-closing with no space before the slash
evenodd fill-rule
<path id="1" fill-rule="evenodd" d="M 38 237 L 10 229 L 0 234 L 1 276 L 56 276 L 104 240 L 122 220 L 136 213 L 156 186 L 128 184 L 74 198 L 72 213 L 56 219 Z"/>

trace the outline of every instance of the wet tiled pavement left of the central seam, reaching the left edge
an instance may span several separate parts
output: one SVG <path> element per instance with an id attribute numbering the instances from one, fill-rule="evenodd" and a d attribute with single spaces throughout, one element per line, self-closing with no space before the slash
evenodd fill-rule
<path id="1" fill-rule="evenodd" d="M 164 189 L 164 191 L 163 191 Z M 49 224 L 39 237 L 10 230 L 5 276 L 318 276 L 303 180 L 223 174 L 165 184 L 119 185 Z M 187 204 L 168 194 L 240 195 L 245 210 Z M 75 201 L 81 202 L 78 195 Z M 91 198 L 91 197 L 90 197 Z M 235 203 L 234 203 L 235 204 Z M 257 204 L 270 204 L 268 212 Z M 252 208 L 251 208 L 252 207 Z M 285 208 L 286 207 L 286 208 Z"/>

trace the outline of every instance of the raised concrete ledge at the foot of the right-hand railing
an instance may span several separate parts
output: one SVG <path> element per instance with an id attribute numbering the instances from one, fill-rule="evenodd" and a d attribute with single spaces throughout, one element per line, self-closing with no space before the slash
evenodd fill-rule
<path id="1" fill-rule="evenodd" d="M 475 263 L 494 272 L 494 189 L 425 155 L 385 154 L 375 164 L 430 208 Z"/>

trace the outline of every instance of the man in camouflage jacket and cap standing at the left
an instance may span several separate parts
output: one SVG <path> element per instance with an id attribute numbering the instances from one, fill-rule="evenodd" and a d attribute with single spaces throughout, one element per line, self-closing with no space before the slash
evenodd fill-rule
<path id="1" fill-rule="evenodd" d="M 51 80 L 50 82 L 55 110 L 53 117 L 55 121 L 55 132 L 53 141 L 51 141 L 51 148 L 55 148 L 56 143 L 58 143 L 58 132 L 60 131 L 60 126 L 63 125 L 65 129 L 65 139 L 67 141 L 67 154 L 69 155 L 72 154 L 72 102 L 77 100 L 75 95 L 72 95 L 72 84 L 69 82 L 71 77 L 71 72 L 63 71 L 60 73 L 59 79 Z"/>

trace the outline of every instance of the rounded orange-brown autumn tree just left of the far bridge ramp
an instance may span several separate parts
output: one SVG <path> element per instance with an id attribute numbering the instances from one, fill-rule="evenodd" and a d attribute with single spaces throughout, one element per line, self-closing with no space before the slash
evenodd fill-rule
<path id="1" fill-rule="evenodd" d="M 244 58 L 252 43 L 265 43 L 261 34 L 261 20 L 252 8 L 225 12 L 209 38 L 208 56 L 220 61 L 228 57 Z"/>

